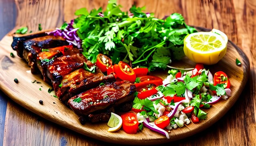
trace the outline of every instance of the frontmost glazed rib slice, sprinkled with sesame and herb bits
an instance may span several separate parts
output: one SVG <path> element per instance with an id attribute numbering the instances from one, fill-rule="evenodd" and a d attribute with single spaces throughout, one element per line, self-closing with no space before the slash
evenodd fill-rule
<path id="1" fill-rule="evenodd" d="M 129 81 L 112 82 L 75 95 L 68 100 L 67 104 L 76 115 L 89 115 L 108 106 L 132 101 L 135 92 L 135 85 Z"/>

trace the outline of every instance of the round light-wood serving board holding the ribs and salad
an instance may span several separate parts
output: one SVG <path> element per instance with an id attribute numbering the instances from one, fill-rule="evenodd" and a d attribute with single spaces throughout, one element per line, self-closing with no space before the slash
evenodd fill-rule
<path id="1" fill-rule="evenodd" d="M 209 31 L 203 28 L 198 28 L 198 30 Z M 122 129 L 115 133 L 110 133 L 107 131 L 109 128 L 107 123 L 86 123 L 81 125 L 74 112 L 57 98 L 53 97 L 55 95 L 54 91 L 48 93 L 48 89 L 52 88 L 52 86 L 45 83 L 40 75 L 31 74 L 27 62 L 19 58 L 11 48 L 12 41 L 11 33 L 0 41 L 0 88 L 4 93 L 16 103 L 51 122 L 82 135 L 116 144 L 162 144 L 203 131 L 224 116 L 231 106 L 234 105 L 245 87 L 249 75 L 249 60 L 247 56 L 234 43 L 229 41 L 224 58 L 217 64 L 204 67 L 210 69 L 212 74 L 216 71 L 227 73 L 231 82 L 231 97 L 227 100 L 220 100 L 218 103 L 213 104 L 211 108 L 204 110 L 208 113 L 206 120 L 201 121 L 199 124 L 184 124 L 183 128 L 171 130 L 169 133 L 170 139 L 146 127 L 137 134 L 127 134 Z M 15 55 L 14 58 L 10 57 L 11 52 Z M 241 61 L 241 66 L 236 65 L 236 58 Z M 193 68 L 195 63 L 185 57 L 180 62 L 173 62 L 171 66 Z M 164 79 L 167 72 L 155 72 L 152 74 Z M 18 84 L 13 81 L 15 78 L 18 79 Z M 34 80 L 40 83 L 32 83 Z M 41 88 L 41 91 L 39 88 Z M 43 105 L 39 104 L 39 100 L 43 100 Z"/>

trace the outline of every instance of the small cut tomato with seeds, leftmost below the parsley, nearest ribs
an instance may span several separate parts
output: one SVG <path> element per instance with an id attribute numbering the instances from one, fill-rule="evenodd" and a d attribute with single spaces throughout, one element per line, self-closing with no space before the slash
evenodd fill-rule
<path id="1" fill-rule="evenodd" d="M 96 66 L 98 66 L 102 72 L 106 72 L 107 67 L 111 65 L 112 65 L 112 60 L 108 58 L 108 56 L 103 55 L 101 53 L 97 55 Z"/>

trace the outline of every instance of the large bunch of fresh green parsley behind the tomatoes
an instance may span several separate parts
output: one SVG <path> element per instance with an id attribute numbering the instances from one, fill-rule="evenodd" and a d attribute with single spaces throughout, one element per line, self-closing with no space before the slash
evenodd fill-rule
<path id="1" fill-rule="evenodd" d="M 144 7 L 120 9 L 116 0 L 109 0 L 102 8 L 88 12 L 86 8 L 75 12 L 74 28 L 82 40 L 83 55 L 93 63 L 97 55 L 108 55 L 114 64 L 120 60 L 132 67 L 146 66 L 150 71 L 166 69 L 171 60 L 184 57 L 183 39 L 196 32 L 187 26 L 180 13 L 158 19 L 153 13 L 144 13 Z"/>

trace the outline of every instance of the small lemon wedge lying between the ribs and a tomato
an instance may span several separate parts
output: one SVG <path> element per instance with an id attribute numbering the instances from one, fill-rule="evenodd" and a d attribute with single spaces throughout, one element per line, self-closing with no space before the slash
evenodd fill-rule
<path id="1" fill-rule="evenodd" d="M 110 126 L 110 128 L 108 128 L 108 132 L 118 131 L 121 128 L 122 123 L 122 118 L 119 115 L 111 112 L 110 119 L 108 120 L 108 126 Z"/>

